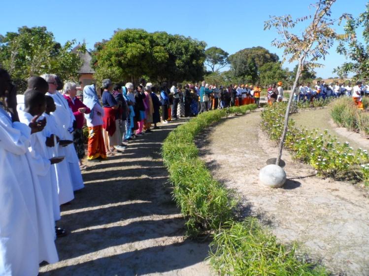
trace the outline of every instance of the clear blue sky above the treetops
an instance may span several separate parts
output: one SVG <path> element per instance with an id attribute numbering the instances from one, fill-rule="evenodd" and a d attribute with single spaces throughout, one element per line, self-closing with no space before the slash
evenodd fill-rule
<path id="1" fill-rule="evenodd" d="M 88 48 L 109 39 L 120 28 L 167 31 L 203 40 L 208 47 L 217 46 L 230 54 L 240 49 L 263 46 L 282 57 L 270 45 L 275 31 L 263 31 L 269 15 L 291 14 L 299 17 L 311 13 L 315 0 L 0 0 L 0 34 L 17 31 L 21 26 L 46 26 L 55 39 L 85 40 Z M 367 0 L 337 0 L 333 17 L 344 12 L 355 17 L 364 11 Z M 339 31 L 341 28 L 337 29 Z M 317 75 L 331 77 L 333 68 L 344 57 L 330 51 L 324 68 Z M 291 64 L 284 64 L 292 68 Z"/>

